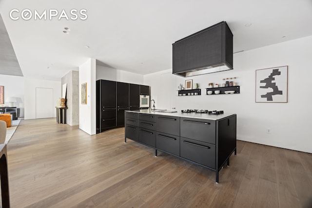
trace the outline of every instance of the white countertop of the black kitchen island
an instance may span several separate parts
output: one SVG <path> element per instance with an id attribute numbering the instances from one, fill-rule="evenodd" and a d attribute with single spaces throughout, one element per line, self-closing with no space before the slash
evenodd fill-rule
<path id="1" fill-rule="evenodd" d="M 169 116 L 178 116 L 178 117 L 187 117 L 187 118 L 199 118 L 199 119 L 209 119 L 209 120 L 219 120 L 222 118 L 226 118 L 231 115 L 235 115 L 235 113 L 222 113 L 222 114 L 208 114 L 208 113 L 182 113 L 181 111 L 177 111 L 176 113 L 164 113 L 164 112 L 155 112 L 149 109 L 146 110 L 135 110 L 135 111 L 126 111 L 133 113 L 149 113 L 155 115 L 169 115 Z"/>

